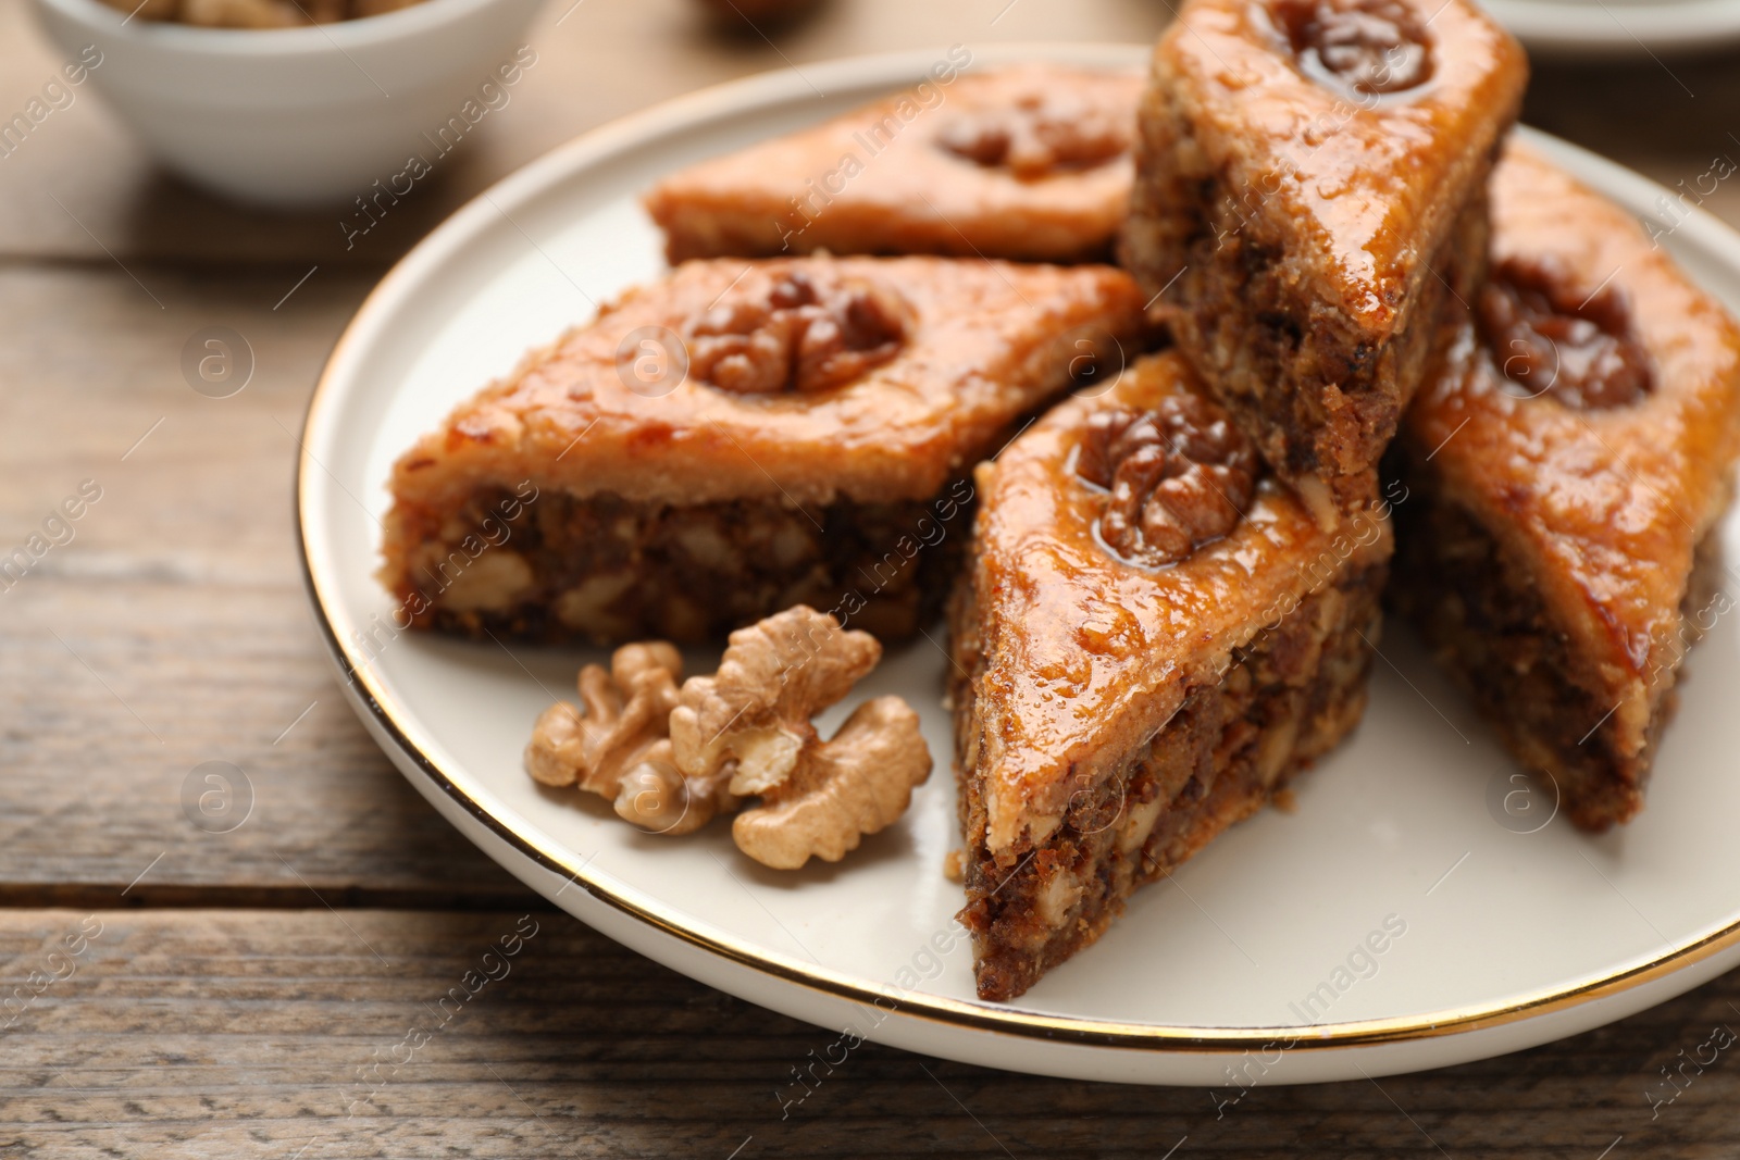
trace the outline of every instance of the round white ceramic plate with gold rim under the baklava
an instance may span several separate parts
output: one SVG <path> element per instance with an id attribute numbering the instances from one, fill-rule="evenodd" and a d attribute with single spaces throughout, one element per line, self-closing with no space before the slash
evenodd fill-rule
<path id="1" fill-rule="evenodd" d="M 976 52 L 980 66 L 1046 57 L 1114 68 L 1143 56 L 1128 45 Z M 938 645 L 891 650 L 858 690 L 914 701 L 938 772 L 900 824 L 842 864 L 790 875 L 740 856 L 727 826 L 644 837 L 602 803 L 525 776 L 532 720 L 553 696 L 572 696 L 578 666 L 600 654 L 510 654 L 378 630 L 392 609 L 371 577 L 392 459 L 525 348 L 661 271 L 635 195 L 677 165 L 908 83 L 940 57 L 804 66 L 588 134 L 459 210 L 357 313 L 308 412 L 303 550 L 339 680 L 411 783 L 583 922 L 828 1028 L 816 1031 L 816 1056 L 830 1059 L 865 1037 L 1096 1080 L 1228 1089 L 1228 1066 L 1242 1082 L 1340 1080 L 1571 1035 L 1740 960 L 1740 843 L 1730 833 L 1740 816 L 1740 617 L 1721 621 L 1693 657 L 1650 809 L 1604 838 L 1547 821 L 1552 803 L 1512 783 L 1488 732 L 1392 630 L 1366 722 L 1298 783 L 1296 812 L 1265 810 L 1221 837 L 1138 894 L 1098 946 L 1007 1005 L 974 998 L 969 950 L 950 934 L 962 894 L 941 871 L 959 838 Z M 1608 162 L 1529 139 L 1639 214 L 1658 195 Z M 1665 243 L 1740 304 L 1740 237 L 1695 214 Z M 1740 525 L 1726 534 L 1733 541 Z M 376 631 L 367 649 L 355 643 L 364 630 Z M 941 640 L 940 628 L 933 635 Z M 713 661 L 698 656 L 691 671 Z M 1361 950 L 1368 939 L 1383 951 Z"/>

